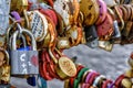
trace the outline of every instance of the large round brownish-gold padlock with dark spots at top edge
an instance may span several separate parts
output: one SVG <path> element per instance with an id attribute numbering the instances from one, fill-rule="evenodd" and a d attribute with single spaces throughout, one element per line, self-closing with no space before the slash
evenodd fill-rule
<path id="1" fill-rule="evenodd" d="M 96 0 L 81 0 L 80 11 L 84 14 L 84 25 L 94 24 L 100 14 Z"/>

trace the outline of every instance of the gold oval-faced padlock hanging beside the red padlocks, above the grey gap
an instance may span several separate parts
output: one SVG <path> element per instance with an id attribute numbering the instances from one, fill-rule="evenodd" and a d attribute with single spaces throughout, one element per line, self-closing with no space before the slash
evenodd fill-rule
<path id="1" fill-rule="evenodd" d="M 58 48 L 55 48 L 57 53 L 60 55 L 58 58 L 58 64 L 57 64 L 57 74 L 62 78 L 62 79 L 68 79 L 70 77 L 74 77 L 76 75 L 76 67 L 74 63 L 66 56 L 64 56 Z"/>

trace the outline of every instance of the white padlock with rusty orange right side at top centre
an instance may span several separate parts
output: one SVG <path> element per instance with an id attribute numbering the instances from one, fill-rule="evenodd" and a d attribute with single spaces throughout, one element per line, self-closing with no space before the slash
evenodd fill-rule
<path id="1" fill-rule="evenodd" d="M 76 0 L 54 1 L 53 9 L 62 16 L 65 26 L 75 24 L 80 12 L 80 6 Z"/>

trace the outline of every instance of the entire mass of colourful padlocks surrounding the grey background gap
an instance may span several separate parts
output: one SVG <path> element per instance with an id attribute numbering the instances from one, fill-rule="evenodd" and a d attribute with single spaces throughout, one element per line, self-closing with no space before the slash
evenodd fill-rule
<path id="1" fill-rule="evenodd" d="M 133 54 L 115 81 L 63 54 L 79 44 L 111 52 L 132 43 L 133 0 L 0 0 L 0 88 L 13 88 L 10 77 L 35 86 L 37 76 L 39 88 L 54 78 L 64 88 L 133 88 Z"/>

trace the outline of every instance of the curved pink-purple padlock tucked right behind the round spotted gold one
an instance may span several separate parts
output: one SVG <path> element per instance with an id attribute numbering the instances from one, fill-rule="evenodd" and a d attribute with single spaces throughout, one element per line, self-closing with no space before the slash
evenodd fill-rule
<path id="1" fill-rule="evenodd" d="M 99 15 L 99 19 L 95 23 L 96 25 L 101 24 L 105 20 L 105 16 L 108 13 L 108 8 L 106 8 L 105 2 L 103 0 L 98 0 L 98 3 L 100 7 L 100 15 Z"/>

